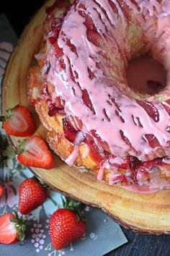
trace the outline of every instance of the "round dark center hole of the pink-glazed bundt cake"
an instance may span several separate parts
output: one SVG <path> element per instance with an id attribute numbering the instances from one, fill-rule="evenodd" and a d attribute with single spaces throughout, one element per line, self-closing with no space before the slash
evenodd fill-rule
<path id="1" fill-rule="evenodd" d="M 151 56 L 140 56 L 129 62 L 128 86 L 139 93 L 154 95 L 166 87 L 166 70 Z"/>

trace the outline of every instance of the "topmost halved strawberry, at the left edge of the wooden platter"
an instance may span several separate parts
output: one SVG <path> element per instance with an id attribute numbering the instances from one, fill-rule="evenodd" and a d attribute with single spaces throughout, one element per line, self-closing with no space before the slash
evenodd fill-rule
<path id="1" fill-rule="evenodd" d="M 30 111 L 24 106 L 16 106 L 6 111 L 2 116 L 3 128 L 9 135 L 27 137 L 35 132 L 35 122 Z"/>

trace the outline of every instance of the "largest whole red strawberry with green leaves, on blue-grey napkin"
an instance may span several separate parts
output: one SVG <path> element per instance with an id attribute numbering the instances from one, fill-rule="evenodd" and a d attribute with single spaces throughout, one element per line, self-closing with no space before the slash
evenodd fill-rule
<path id="1" fill-rule="evenodd" d="M 54 249 L 62 249 L 84 235 L 86 221 L 81 219 L 83 204 L 68 200 L 62 209 L 58 209 L 50 217 L 50 239 Z"/>

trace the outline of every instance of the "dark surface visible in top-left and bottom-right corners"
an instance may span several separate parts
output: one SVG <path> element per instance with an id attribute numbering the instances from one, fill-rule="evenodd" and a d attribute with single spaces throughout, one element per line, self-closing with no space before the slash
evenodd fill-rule
<path id="1" fill-rule="evenodd" d="M 15 33 L 19 37 L 24 26 L 30 21 L 30 18 L 37 9 L 42 6 L 43 2 L 42 0 L 4 0 L 3 4 L 0 4 L 0 13 L 4 12 L 6 14 Z M 115 249 L 113 252 L 109 252 L 107 256 L 170 256 L 169 235 L 143 235 L 128 229 L 122 229 L 128 238 L 128 244 L 122 245 L 122 247 Z"/>

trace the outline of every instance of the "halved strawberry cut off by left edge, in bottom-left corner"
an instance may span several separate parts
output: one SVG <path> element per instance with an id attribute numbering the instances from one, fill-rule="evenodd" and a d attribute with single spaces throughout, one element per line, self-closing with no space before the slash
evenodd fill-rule
<path id="1" fill-rule="evenodd" d="M 25 218 L 17 213 L 5 213 L 0 216 L 0 244 L 14 244 L 24 240 Z"/>

